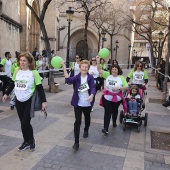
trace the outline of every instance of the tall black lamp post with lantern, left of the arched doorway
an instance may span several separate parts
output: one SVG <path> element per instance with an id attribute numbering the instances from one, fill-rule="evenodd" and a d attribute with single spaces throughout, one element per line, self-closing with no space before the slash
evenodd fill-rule
<path id="1" fill-rule="evenodd" d="M 74 11 L 71 9 L 71 7 L 66 10 L 66 16 L 68 21 L 68 41 L 67 41 L 67 57 L 66 57 L 66 67 L 69 68 L 69 55 L 70 55 L 70 24 L 73 20 L 73 14 Z"/>

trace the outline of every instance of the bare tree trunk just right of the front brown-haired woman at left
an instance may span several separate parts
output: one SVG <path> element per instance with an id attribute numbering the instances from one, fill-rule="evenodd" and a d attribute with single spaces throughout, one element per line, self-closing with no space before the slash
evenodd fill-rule
<path id="1" fill-rule="evenodd" d="M 45 48 L 47 50 L 47 57 L 48 57 L 48 62 L 49 62 L 49 67 L 50 69 L 53 69 L 52 65 L 51 65 L 51 46 L 50 46 L 50 42 L 48 39 L 48 35 L 47 35 L 47 31 L 44 25 L 44 22 L 40 22 L 40 28 L 43 34 L 43 38 L 44 38 L 44 43 L 45 43 Z M 49 72 L 49 91 L 51 92 L 51 87 L 54 84 L 54 72 L 50 71 Z"/>

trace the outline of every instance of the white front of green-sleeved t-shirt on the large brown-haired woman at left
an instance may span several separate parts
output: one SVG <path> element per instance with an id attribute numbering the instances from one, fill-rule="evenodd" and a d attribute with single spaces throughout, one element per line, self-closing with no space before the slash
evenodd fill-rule
<path id="1" fill-rule="evenodd" d="M 34 75 L 30 70 L 18 70 L 15 78 L 14 92 L 20 102 L 27 101 L 33 93 Z"/>

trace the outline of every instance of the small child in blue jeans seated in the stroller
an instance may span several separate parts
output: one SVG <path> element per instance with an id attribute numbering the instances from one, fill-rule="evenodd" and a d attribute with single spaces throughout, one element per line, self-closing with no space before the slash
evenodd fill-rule
<path id="1" fill-rule="evenodd" d="M 127 103 L 130 116 L 136 116 L 139 114 L 138 109 L 141 105 L 141 96 L 138 86 L 134 85 L 130 89 L 130 93 L 127 95 Z"/>

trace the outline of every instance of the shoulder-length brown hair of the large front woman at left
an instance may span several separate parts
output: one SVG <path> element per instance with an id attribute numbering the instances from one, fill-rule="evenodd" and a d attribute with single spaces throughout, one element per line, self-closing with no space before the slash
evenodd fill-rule
<path id="1" fill-rule="evenodd" d="M 30 70 L 35 70 L 35 61 L 34 61 L 34 58 L 31 53 L 29 53 L 29 52 L 20 53 L 20 55 L 18 56 L 18 61 L 17 61 L 19 67 L 20 67 L 20 58 L 21 57 L 25 57 L 28 60 Z"/>

